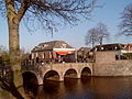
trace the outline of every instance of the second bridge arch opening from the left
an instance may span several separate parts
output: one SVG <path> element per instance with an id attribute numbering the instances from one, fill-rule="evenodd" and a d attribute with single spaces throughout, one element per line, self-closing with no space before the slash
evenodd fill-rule
<path id="1" fill-rule="evenodd" d="M 61 76 L 58 74 L 58 72 L 56 70 L 48 70 L 44 74 L 44 78 L 43 78 L 43 81 L 45 80 L 56 80 L 56 81 L 59 81 L 61 79 Z"/>

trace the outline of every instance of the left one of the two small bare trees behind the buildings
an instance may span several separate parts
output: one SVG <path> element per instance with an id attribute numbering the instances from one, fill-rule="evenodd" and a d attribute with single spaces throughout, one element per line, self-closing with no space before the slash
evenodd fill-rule
<path id="1" fill-rule="evenodd" d="M 85 44 L 86 45 L 91 44 L 94 47 L 97 42 L 98 42 L 97 29 L 92 28 L 88 31 L 88 33 L 85 36 Z"/>

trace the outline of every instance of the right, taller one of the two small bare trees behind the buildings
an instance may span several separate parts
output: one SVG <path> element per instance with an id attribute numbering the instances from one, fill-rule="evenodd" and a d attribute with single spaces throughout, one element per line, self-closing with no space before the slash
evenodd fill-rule
<path id="1" fill-rule="evenodd" d="M 98 42 L 100 45 L 102 45 L 103 38 L 109 37 L 107 25 L 105 23 L 99 22 L 96 29 L 97 29 Z"/>

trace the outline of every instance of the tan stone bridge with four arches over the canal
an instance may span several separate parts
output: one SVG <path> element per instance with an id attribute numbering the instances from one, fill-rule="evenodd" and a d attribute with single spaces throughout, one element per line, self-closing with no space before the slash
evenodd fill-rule
<path id="1" fill-rule="evenodd" d="M 43 85 L 45 79 L 63 81 L 65 77 L 80 78 L 81 76 L 92 76 L 92 63 L 62 63 L 26 66 L 22 70 L 23 79 L 31 77 L 37 79 L 37 85 Z"/>

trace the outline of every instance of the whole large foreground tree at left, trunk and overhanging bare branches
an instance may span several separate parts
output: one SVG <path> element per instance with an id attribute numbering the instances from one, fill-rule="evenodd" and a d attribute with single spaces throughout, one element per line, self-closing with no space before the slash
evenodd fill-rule
<path id="1" fill-rule="evenodd" d="M 89 18 L 96 6 L 96 0 L 0 0 L 0 4 L 1 13 L 8 18 L 13 82 L 18 91 L 22 94 L 19 40 L 21 20 L 25 19 L 26 25 L 34 25 L 33 29 L 38 25 L 53 32 L 58 23 L 73 24 L 82 16 Z"/>

